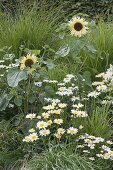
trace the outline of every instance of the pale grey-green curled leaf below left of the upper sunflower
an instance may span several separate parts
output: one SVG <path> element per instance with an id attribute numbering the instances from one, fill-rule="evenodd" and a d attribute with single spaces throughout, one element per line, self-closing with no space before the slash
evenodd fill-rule
<path id="1" fill-rule="evenodd" d="M 66 44 L 65 46 L 61 47 L 56 53 L 55 53 L 55 57 L 65 57 L 69 54 L 70 52 L 70 48 L 68 46 L 68 44 Z"/>

